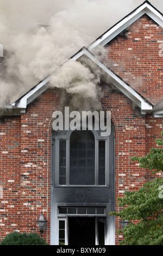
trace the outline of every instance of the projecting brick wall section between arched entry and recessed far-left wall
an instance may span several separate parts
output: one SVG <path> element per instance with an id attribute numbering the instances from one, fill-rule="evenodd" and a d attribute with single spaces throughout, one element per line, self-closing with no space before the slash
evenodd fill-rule
<path id="1" fill-rule="evenodd" d="M 48 220 L 43 237 L 50 243 L 52 114 L 59 106 L 58 90 L 48 90 L 21 117 L 20 231 L 38 231 L 41 211 Z"/>

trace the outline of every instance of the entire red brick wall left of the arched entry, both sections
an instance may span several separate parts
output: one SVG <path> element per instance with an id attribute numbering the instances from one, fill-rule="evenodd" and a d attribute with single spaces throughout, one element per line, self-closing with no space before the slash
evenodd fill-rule
<path id="1" fill-rule="evenodd" d="M 14 230 L 38 232 L 35 220 L 43 211 L 50 243 L 51 121 L 59 100 L 58 90 L 49 90 L 21 117 L 1 121 L 0 240 Z"/>

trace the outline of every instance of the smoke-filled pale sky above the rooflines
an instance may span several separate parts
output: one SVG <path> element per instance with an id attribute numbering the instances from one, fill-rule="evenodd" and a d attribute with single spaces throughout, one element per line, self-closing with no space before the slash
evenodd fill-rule
<path id="1" fill-rule="evenodd" d="M 162 0 L 149 2 L 163 13 Z M 0 44 L 10 52 L 8 74 L 17 77 L 16 82 L 0 81 L 0 105 L 6 105 L 6 97 L 14 101 L 26 93 L 142 3 L 140 0 L 0 0 Z M 51 26 L 45 29 L 41 24 Z"/>

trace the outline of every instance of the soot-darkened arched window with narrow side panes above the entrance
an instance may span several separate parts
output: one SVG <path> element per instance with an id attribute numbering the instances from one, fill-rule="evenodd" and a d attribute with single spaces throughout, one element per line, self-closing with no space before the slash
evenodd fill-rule
<path id="1" fill-rule="evenodd" d="M 55 136 L 55 186 L 108 186 L 109 136 L 84 129 Z"/>

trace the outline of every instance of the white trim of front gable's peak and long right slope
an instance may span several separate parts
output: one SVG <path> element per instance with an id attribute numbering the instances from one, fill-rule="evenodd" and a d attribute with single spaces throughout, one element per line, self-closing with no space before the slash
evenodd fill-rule
<path id="1" fill-rule="evenodd" d="M 86 48 L 83 48 L 82 51 L 78 52 L 76 56 L 73 56 L 72 59 L 77 60 L 85 54 L 89 57 L 93 62 L 95 62 L 101 69 L 103 69 L 106 74 L 109 75 L 109 81 L 113 84 L 117 89 L 119 89 L 124 95 L 126 95 L 131 101 L 133 101 L 137 106 L 141 108 L 142 114 L 146 114 L 150 110 L 152 110 L 152 104 L 148 103 L 143 97 L 135 92 L 133 88 L 128 86 L 120 77 L 118 77 L 114 72 L 108 69 L 104 64 L 99 62 L 95 56 L 91 52 L 89 52 Z"/>

